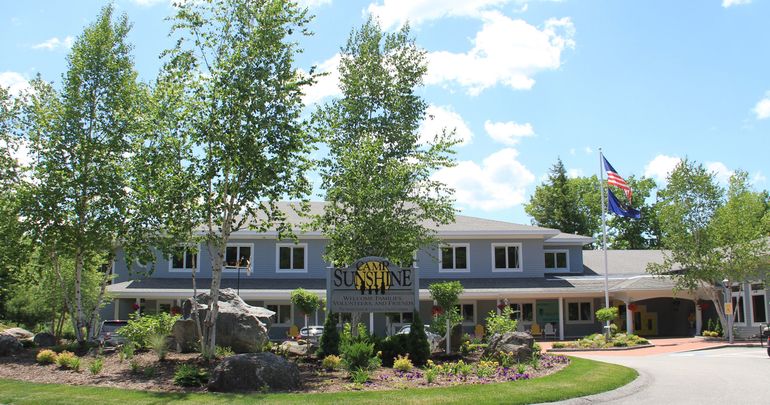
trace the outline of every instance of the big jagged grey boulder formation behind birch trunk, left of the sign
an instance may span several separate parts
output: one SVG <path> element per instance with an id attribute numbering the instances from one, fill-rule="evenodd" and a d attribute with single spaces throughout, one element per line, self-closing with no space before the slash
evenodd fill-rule
<path id="1" fill-rule="evenodd" d="M 185 315 L 193 305 L 198 306 L 198 316 L 202 323 L 208 314 L 208 294 L 202 293 L 193 300 L 187 300 L 183 307 Z M 217 316 L 216 339 L 218 346 L 228 346 L 236 353 L 254 353 L 262 350 L 269 340 L 270 317 L 275 312 L 262 307 L 254 307 L 243 302 L 232 288 L 219 291 L 219 311 Z M 179 319 L 173 326 L 172 333 L 180 351 L 197 350 L 197 330 L 192 319 Z"/>

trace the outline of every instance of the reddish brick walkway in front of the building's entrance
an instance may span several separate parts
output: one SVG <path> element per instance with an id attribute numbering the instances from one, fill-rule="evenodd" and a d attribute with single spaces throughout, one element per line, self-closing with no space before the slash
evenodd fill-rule
<path id="1" fill-rule="evenodd" d="M 540 344 L 540 347 L 542 347 L 543 350 L 545 351 L 550 349 L 555 342 L 538 342 L 538 343 Z M 695 337 L 650 339 L 650 343 L 652 343 L 655 346 L 645 347 L 642 349 L 633 349 L 633 350 L 577 351 L 577 352 L 560 352 L 559 354 L 566 354 L 569 356 L 578 356 L 578 357 L 582 357 L 582 356 L 628 357 L 628 356 L 652 356 L 652 355 L 664 354 L 664 353 L 689 352 L 692 350 L 715 349 L 718 347 L 743 347 L 747 345 L 759 347 L 759 342 L 756 340 L 736 341 L 731 345 L 726 342 L 707 342 L 703 339 L 699 339 Z"/>

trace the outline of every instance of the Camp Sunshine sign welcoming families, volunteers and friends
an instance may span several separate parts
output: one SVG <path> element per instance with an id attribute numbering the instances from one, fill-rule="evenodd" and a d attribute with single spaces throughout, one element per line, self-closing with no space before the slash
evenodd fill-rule
<path id="1" fill-rule="evenodd" d="M 417 309 L 419 280 L 414 268 L 382 257 L 330 269 L 327 302 L 332 312 L 411 312 Z"/>

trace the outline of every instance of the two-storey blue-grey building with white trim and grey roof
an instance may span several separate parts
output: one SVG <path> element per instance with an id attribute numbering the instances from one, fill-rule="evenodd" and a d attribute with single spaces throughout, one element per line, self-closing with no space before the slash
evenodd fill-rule
<path id="1" fill-rule="evenodd" d="M 290 222 L 299 225 L 306 221 L 287 206 L 284 208 Z M 312 213 L 322 210 L 322 203 L 311 204 Z M 429 246 L 416 255 L 423 320 L 432 316 L 428 285 L 459 280 L 465 288 L 460 312 L 469 333 L 476 325 L 484 324 L 490 311 L 499 311 L 505 305 L 514 309 L 521 328 L 529 330 L 538 324 L 543 330 L 550 324 L 559 339 L 601 331 L 594 312 L 604 306 L 604 255 L 583 249 L 593 242 L 592 238 L 461 215 L 436 231 L 442 241 L 440 249 Z M 301 233 L 297 243 L 276 237 L 276 232 L 234 233 L 226 249 L 222 287 L 236 288 L 246 302 L 275 311 L 270 334 L 273 339 L 281 339 L 292 325 L 304 325 L 304 315 L 289 301 L 291 291 L 302 287 L 325 297 L 329 268 L 322 258 L 327 244 L 322 234 Z M 192 296 L 191 272 L 196 264 L 200 265 L 197 287 L 208 290 L 208 249 L 199 246 L 197 250 L 197 254 L 191 254 L 180 247 L 171 257 L 158 253 L 149 276 L 139 276 L 148 269 L 136 264 L 129 272 L 118 255 L 116 279 L 108 287 L 113 302 L 104 309 L 103 319 L 126 319 L 136 310 L 172 311 Z M 237 267 L 239 258 L 248 258 L 250 274 Z M 620 309 L 619 327 L 643 336 L 699 334 L 708 319 L 717 319 L 710 301 L 698 292 L 675 293 L 671 280 L 646 274 L 648 263 L 662 261 L 660 251 L 608 252 L 609 295 L 611 304 Z M 733 300 L 740 310 L 736 326 L 751 329 L 766 323 L 769 300 L 764 284 L 751 285 L 743 295 L 734 290 Z M 389 317 L 370 314 L 362 321 L 368 321 L 375 333 L 388 334 L 410 323 L 411 317 L 411 313 Z M 321 324 L 323 319 L 323 311 L 309 314 L 309 324 Z"/>

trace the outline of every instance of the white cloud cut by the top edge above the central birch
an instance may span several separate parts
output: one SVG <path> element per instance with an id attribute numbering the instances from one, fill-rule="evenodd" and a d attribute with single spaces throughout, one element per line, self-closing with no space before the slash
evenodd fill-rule
<path id="1" fill-rule="evenodd" d="M 478 17 L 483 11 L 498 8 L 511 0 L 385 0 L 369 4 L 368 11 L 379 18 L 384 29 L 398 27 L 407 20 L 411 25 L 444 17 Z"/>

